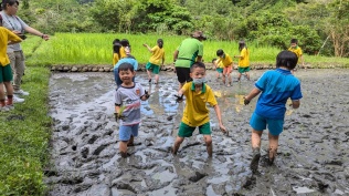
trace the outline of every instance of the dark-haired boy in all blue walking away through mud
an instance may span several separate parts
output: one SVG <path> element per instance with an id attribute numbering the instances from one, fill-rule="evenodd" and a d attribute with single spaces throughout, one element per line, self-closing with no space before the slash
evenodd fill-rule
<path id="1" fill-rule="evenodd" d="M 261 157 L 261 136 L 268 127 L 268 161 L 273 164 L 278 147 L 278 135 L 283 132 L 286 112 L 286 102 L 292 100 L 293 109 L 298 109 L 300 99 L 300 81 L 292 74 L 297 65 L 298 58 L 290 51 L 282 51 L 276 58 L 276 70 L 266 71 L 255 83 L 255 87 L 244 97 L 247 105 L 252 99 L 258 97 L 256 109 L 251 116 L 252 126 L 252 161 L 250 168 L 255 173 Z"/>

